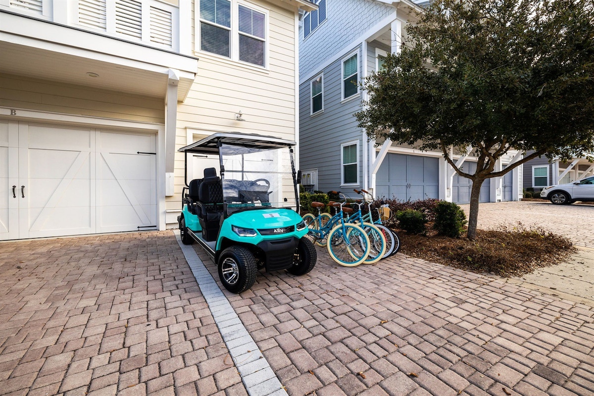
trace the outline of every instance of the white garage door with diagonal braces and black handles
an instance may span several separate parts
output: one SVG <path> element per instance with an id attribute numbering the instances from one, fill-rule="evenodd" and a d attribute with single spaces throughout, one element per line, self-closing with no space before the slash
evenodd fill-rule
<path id="1" fill-rule="evenodd" d="M 0 121 L 0 239 L 156 227 L 155 144 L 154 135 Z"/>

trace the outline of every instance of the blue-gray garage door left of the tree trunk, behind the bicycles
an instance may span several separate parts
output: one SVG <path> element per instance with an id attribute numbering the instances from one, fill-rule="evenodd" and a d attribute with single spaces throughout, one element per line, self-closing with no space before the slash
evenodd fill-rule
<path id="1" fill-rule="evenodd" d="M 387 154 L 375 176 L 377 197 L 439 198 L 439 174 L 438 158 Z"/>

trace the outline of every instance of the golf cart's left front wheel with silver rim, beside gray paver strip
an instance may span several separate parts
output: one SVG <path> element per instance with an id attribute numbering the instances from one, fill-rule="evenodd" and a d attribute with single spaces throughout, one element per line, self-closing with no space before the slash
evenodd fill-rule
<path id="1" fill-rule="evenodd" d="M 241 293 L 252 287 L 258 268 L 254 255 L 242 246 L 229 246 L 219 256 L 219 278 L 225 289 Z"/>

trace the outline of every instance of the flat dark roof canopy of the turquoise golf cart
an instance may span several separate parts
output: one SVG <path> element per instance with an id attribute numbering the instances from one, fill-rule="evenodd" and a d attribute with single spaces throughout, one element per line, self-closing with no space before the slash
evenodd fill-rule
<path id="1" fill-rule="evenodd" d="M 252 148 L 290 147 L 294 141 L 279 139 L 273 136 L 257 134 L 241 134 L 239 132 L 216 132 L 202 140 L 180 148 L 182 153 L 218 154 L 219 142 Z"/>

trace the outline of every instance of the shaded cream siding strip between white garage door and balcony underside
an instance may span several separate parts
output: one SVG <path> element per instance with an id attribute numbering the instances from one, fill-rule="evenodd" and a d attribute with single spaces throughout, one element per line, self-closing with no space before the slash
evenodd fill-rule
<path id="1" fill-rule="evenodd" d="M 0 106 L 163 123 L 162 99 L 0 74 Z"/>

